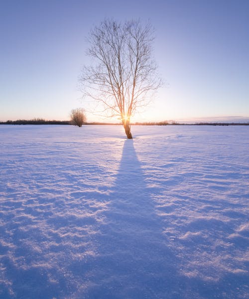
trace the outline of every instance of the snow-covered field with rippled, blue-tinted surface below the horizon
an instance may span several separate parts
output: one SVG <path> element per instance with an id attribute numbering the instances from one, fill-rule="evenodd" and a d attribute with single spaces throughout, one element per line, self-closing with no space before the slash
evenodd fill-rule
<path id="1" fill-rule="evenodd" d="M 0 126 L 1 299 L 248 299 L 249 127 Z"/>

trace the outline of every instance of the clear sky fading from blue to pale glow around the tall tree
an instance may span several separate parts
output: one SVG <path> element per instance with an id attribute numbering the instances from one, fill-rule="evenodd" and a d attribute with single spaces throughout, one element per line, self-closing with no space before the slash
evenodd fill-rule
<path id="1" fill-rule="evenodd" d="M 84 106 L 86 36 L 105 17 L 150 19 L 156 30 L 166 85 L 134 120 L 249 120 L 248 16 L 248 0 L 2 0 L 0 120 L 69 119 Z"/>

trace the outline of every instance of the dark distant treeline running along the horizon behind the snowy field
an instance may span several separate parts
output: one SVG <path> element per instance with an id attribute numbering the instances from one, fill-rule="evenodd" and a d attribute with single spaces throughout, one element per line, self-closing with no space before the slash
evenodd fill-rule
<path id="1" fill-rule="evenodd" d="M 1 121 L 0 124 L 63 124 L 72 125 L 70 120 L 45 120 L 42 118 L 34 119 L 17 119 L 17 120 L 7 120 Z M 86 125 L 121 125 L 121 123 L 111 123 L 111 122 L 86 122 Z M 213 125 L 213 126 L 228 126 L 228 125 L 249 125 L 247 123 L 240 122 L 198 122 L 198 123 L 179 123 L 174 120 L 165 120 L 159 122 L 135 122 L 131 125 Z"/>

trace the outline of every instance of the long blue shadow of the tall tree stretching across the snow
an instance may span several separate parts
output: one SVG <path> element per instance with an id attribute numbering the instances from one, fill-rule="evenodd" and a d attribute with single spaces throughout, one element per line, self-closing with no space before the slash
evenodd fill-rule
<path id="1" fill-rule="evenodd" d="M 182 289 L 133 142 L 124 141 L 107 224 L 96 240 L 98 256 L 87 267 L 86 298 L 178 298 L 175 291 Z"/>

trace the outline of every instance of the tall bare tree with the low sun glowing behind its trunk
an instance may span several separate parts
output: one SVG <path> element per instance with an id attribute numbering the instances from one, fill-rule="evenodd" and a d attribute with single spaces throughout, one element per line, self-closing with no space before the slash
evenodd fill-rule
<path id="1" fill-rule="evenodd" d="M 85 66 L 80 83 L 84 96 L 96 100 L 99 113 L 118 116 L 128 139 L 130 117 L 151 99 L 161 80 L 152 58 L 153 30 L 140 21 L 118 23 L 106 19 L 90 32 L 87 54 L 93 65 Z"/>

